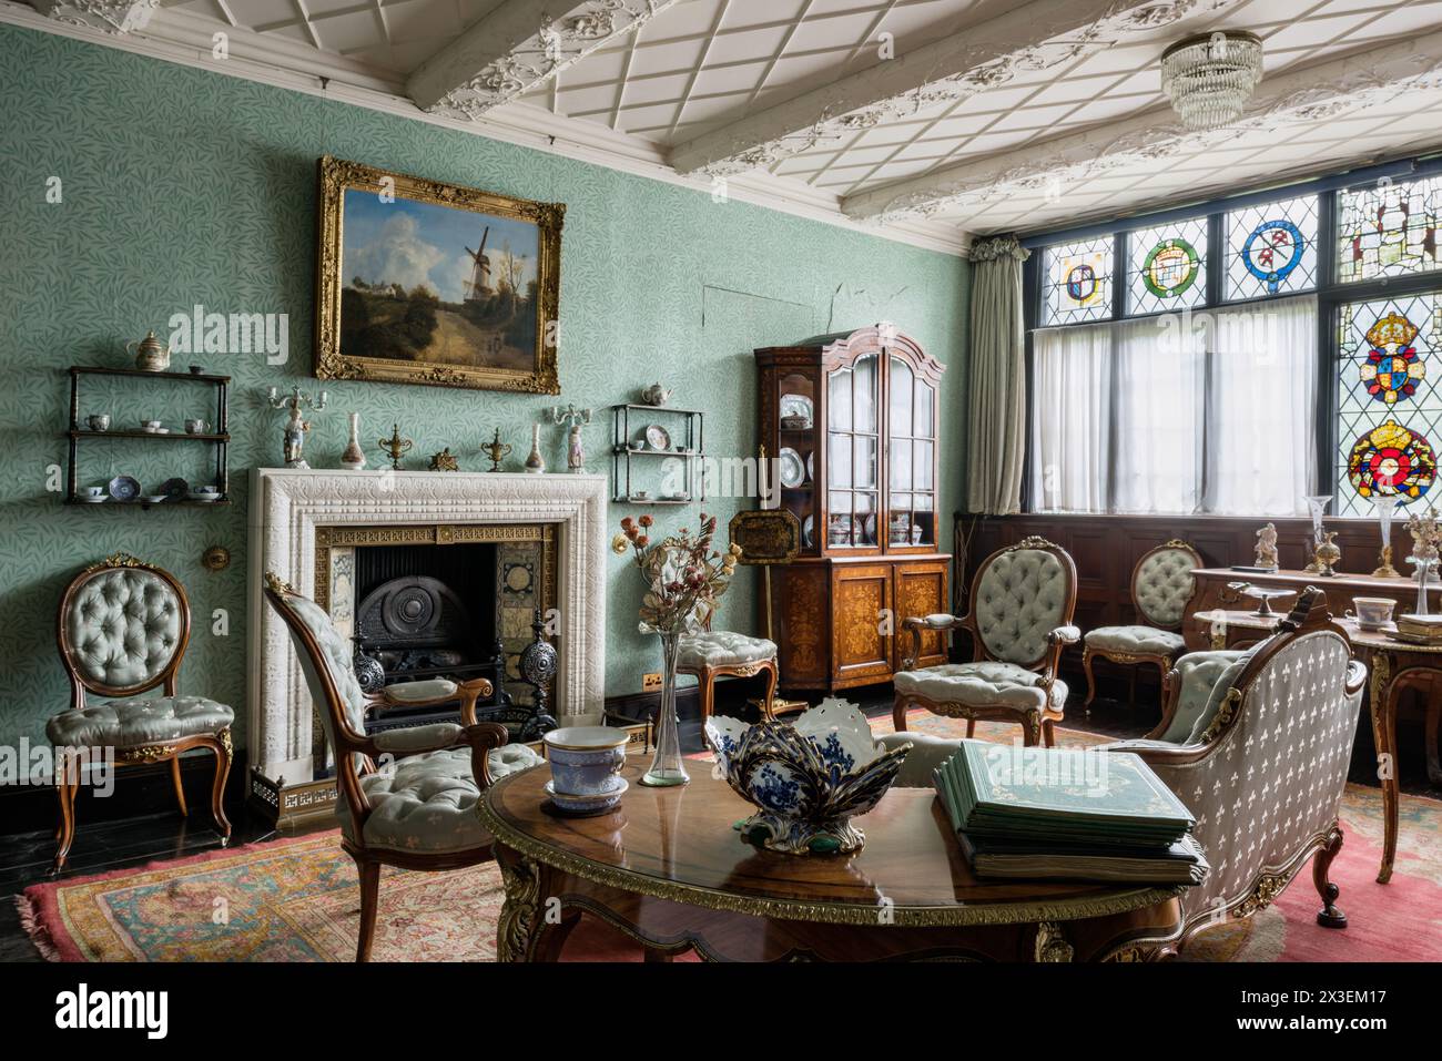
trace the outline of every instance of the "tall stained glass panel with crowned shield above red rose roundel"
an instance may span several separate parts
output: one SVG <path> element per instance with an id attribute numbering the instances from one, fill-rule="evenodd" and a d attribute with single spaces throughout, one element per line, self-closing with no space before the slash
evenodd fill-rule
<path id="1" fill-rule="evenodd" d="M 1337 510 L 1371 516 L 1373 496 L 1410 505 L 1436 481 L 1442 294 L 1347 303 L 1340 326 Z"/>

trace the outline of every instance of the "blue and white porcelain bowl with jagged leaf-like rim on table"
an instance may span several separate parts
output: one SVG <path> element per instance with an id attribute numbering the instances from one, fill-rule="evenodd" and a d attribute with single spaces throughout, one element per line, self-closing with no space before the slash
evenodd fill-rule
<path id="1" fill-rule="evenodd" d="M 826 699 L 795 722 L 707 719 L 707 744 L 727 784 L 760 810 L 737 823 L 753 843 L 793 855 L 859 851 L 851 817 L 877 806 L 911 745 L 887 750 L 861 708 Z"/>

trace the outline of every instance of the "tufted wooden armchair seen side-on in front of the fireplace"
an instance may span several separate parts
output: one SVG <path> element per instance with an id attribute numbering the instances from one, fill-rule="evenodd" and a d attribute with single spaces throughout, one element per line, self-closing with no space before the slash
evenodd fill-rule
<path id="1" fill-rule="evenodd" d="M 476 701 L 490 682 L 412 682 L 392 686 L 388 705 L 444 703 L 460 695 L 461 721 L 389 729 L 368 737 L 368 701 L 352 669 L 352 644 L 330 616 L 275 575 L 265 575 L 265 600 L 290 630 L 301 673 L 316 701 L 326 740 L 336 753 L 340 846 L 360 875 L 360 936 L 356 962 L 371 957 L 379 904 L 381 866 L 443 871 L 486 862 L 492 838 L 476 802 L 492 781 L 541 763 L 523 744 L 508 744 L 506 728 L 476 722 Z M 415 689 L 424 685 L 428 689 Z M 421 692 L 433 696 L 421 698 Z M 404 696 L 405 699 L 398 699 Z"/>

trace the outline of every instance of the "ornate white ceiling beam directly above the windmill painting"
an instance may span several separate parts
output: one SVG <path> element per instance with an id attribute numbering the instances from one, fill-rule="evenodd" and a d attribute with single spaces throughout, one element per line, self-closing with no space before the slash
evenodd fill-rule
<path id="1" fill-rule="evenodd" d="M 503 0 L 423 62 L 407 92 L 424 111 L 480 118 L 650 22 L 676 0 Z M 552 17 L 557 7 L 562 14 Z"/>

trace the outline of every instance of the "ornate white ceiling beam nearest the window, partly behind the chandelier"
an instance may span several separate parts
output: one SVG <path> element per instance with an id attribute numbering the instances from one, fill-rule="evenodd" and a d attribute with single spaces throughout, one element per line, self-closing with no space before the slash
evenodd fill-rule
<path id="1" fill-rule="evenodd" d="M 1223 147 L 1242 133 L 1266 133 L 1299 123 L 1317 125 L 1394 99 L 1400 92 L 1432 88 L 1442 88 L 1442 32 L 1270 75 L 1243 117 L 1220 130 L 1190 131 L 1171 107 L 1155 107 L 1123 121 L 857 192 L 842 200 L 842 212 L 848 218 L 894 221 L 932 216 L 962 203 L 992 202 L 1024 190 L 1061 195 L 1102 173 L 1181 151 Z"/>

